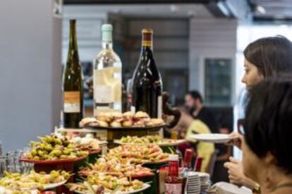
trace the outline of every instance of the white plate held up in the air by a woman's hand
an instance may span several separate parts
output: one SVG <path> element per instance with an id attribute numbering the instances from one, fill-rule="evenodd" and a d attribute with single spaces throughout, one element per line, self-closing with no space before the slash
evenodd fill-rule
<path id="1" fill-rule="evenodd" d="M 208 143 L 228 143 L 230 140 L 236 139 L 231 138 L 227 134 L 221 133 L 202 133 L 202 134 L 194 134 L 190 135 L 191 139 L 204 141 Z"/>

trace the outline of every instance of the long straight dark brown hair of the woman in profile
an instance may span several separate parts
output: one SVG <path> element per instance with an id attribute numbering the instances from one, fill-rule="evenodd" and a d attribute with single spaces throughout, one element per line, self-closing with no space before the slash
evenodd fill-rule
<path id="1" fill-rule="evenodd" d="M 264 78 L 292 71 L 292 43 L 284 36 L 264 37 L 248 44 L 245 59 L 253 63 Z"/>

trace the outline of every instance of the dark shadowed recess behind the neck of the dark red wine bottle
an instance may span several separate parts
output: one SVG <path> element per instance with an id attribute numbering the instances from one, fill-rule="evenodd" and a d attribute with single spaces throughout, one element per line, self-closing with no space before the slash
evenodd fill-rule
<path id="1" fill-rule="evenodd" d="M 127 38 L 132 44 L 128 55 L 132 68 L 140 56 L 142 28 L 154 31 L 153 50 L 158 68 L 188 68 L 188 19 L 129 18 Z"/>

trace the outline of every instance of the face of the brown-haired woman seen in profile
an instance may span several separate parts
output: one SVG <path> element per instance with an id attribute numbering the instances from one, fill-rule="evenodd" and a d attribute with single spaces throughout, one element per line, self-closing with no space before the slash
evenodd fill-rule
<path id="1" fill-rule="evenodd" d="M 257 83 L 260 83 L 260 81 L 264 78 L 262 73 L 258 71 L 257 66 L 255 66 L 253 63 L 250 63 L 246 59 L 244 59 L 244 71 L 245 73 L 241 82 L 245 83 L 245 86 L 248 88 L 257 85 Z"/>

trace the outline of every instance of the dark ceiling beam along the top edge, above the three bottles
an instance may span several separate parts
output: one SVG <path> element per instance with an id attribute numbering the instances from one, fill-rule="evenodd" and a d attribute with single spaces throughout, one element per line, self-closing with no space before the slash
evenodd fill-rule
<path id="1" fill-rule="evenodd" d="M 63 0 L 64 4 L 209 4 L 210 0 Z M 213 0 L 214 1 L 214 0 Z"/>

